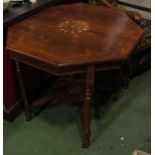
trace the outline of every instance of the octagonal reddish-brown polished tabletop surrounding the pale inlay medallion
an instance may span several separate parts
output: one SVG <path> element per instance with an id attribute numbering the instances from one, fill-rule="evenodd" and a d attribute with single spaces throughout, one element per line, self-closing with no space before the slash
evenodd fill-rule
<path id="1" fill-rule="evenodd" d="M 74 19 L 88 23 L 89 30 L 73 34 L 59 30 L 60 23 Z M 50 7 L 11 27 L 7 49 L 13 59 L 59 75 L 67 73 L 69 66 L 83 70 L 89 63 L 124 60 L 142 34 L 143 30 L 121 11 L 64 5 Z"/>

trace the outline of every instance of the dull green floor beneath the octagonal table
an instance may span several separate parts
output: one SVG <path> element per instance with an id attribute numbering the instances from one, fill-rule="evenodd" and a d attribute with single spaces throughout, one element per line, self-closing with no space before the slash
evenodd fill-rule
<path id="1" fill-rule="evenodd" d="M 92 112 L 90 148 L 81 148 L 78 108 L 49 104 L 31 122 L 24 114 L 4 121 L 4 155 L 131 155 L 139 147 L 150 153 L 150 77 L 148 71 L 132 79 L 117 102 L 101 106 L 100 119 Z"/>

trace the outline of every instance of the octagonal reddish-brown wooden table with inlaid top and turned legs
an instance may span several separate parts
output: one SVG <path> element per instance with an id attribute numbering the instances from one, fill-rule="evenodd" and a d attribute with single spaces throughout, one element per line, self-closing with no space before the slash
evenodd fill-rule
<path id="1" fill-rule="evenodd" d="M 83 147 L 88 147 L 95 72 L 122 66 L 142 34 L 122 11 L 83 3 L 47 8 L 11 27 L 7 49 L 16 62 L 27 119 L 31 108 L 20 63 L 58 76 L 83 74 Z"/>

